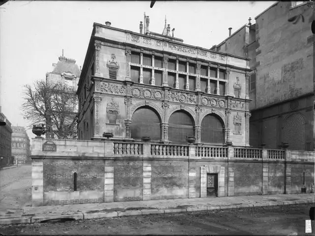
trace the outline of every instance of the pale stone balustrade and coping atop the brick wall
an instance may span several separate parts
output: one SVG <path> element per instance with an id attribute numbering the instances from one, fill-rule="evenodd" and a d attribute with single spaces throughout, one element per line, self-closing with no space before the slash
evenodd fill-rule
<path id="1" fill-rule="evenodd" d="M 56 151 L 43 151 L 49 141 Z M 152 146 L 155 145 L 155 146 Z M 154 147 L 154 148 L 153 148 Z M 123 142 L 102 140 L 32 139 L 32 159 L 36 158 L 89 158 L 89 159 L 172 159 L 215 161 L 292 161 L 315 162 L 315 151 L 273 150 L 248 147 L 165 145 L 150 142 Z M 153 148 L 153 149 L 151 149 Z M 203 149 L 202 151 L 200 151 Z M 199 150 L 199 151 L 197 151 Z"/>

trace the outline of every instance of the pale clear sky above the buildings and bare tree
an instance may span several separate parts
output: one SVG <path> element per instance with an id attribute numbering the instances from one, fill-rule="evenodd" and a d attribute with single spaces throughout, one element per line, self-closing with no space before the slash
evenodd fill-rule
<path id="1" fill-rule="evenodd" d="M 12 125 L 21 115 L 23 86 L 45 79 L 62 55 L 83 65 L 93 23 L 139 32 L 144 12 L 150 31 L 162 33 L 165 16 L 174 36 L 210 49 L 275 1 L 8 1 L 0 6 L 0 106 Z M 34 138 L 28 129 L 30 139 Z M 32 142 L 32 141 L 31 141 Z"/>

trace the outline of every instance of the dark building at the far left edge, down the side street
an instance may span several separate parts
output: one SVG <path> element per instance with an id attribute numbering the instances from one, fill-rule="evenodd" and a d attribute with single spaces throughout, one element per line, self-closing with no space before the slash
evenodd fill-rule
<path id="1" fill-rule="evenodd" d="M 13 164 L 11 155 L 12 128 L 10 121 L 1 113 L 1 107 L 0 121 L 6 122 L 5 126 L 0 126 L 0 167 L 5 167 Z"/>

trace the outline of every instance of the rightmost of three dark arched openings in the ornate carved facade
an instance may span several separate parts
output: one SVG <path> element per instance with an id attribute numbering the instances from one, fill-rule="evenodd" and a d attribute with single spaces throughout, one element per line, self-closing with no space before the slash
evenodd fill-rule
<path id="1" fill-rule="evenodd" d="M 202 119 L 201 142 L 206 144 L 224 144 L 224 124 L 221 118 L 209 114 Z"/>

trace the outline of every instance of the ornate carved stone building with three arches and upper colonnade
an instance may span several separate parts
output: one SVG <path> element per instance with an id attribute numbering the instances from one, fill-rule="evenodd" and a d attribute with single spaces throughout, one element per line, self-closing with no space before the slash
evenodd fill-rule
<path id="1" fill-rule="evenodd" d="M 94 23 L 77 90 L 79 139 L 249 146 L 248 59 L 184 44 L 166 21 L 152 32 L 148 20 L 139 33 Z"/>

